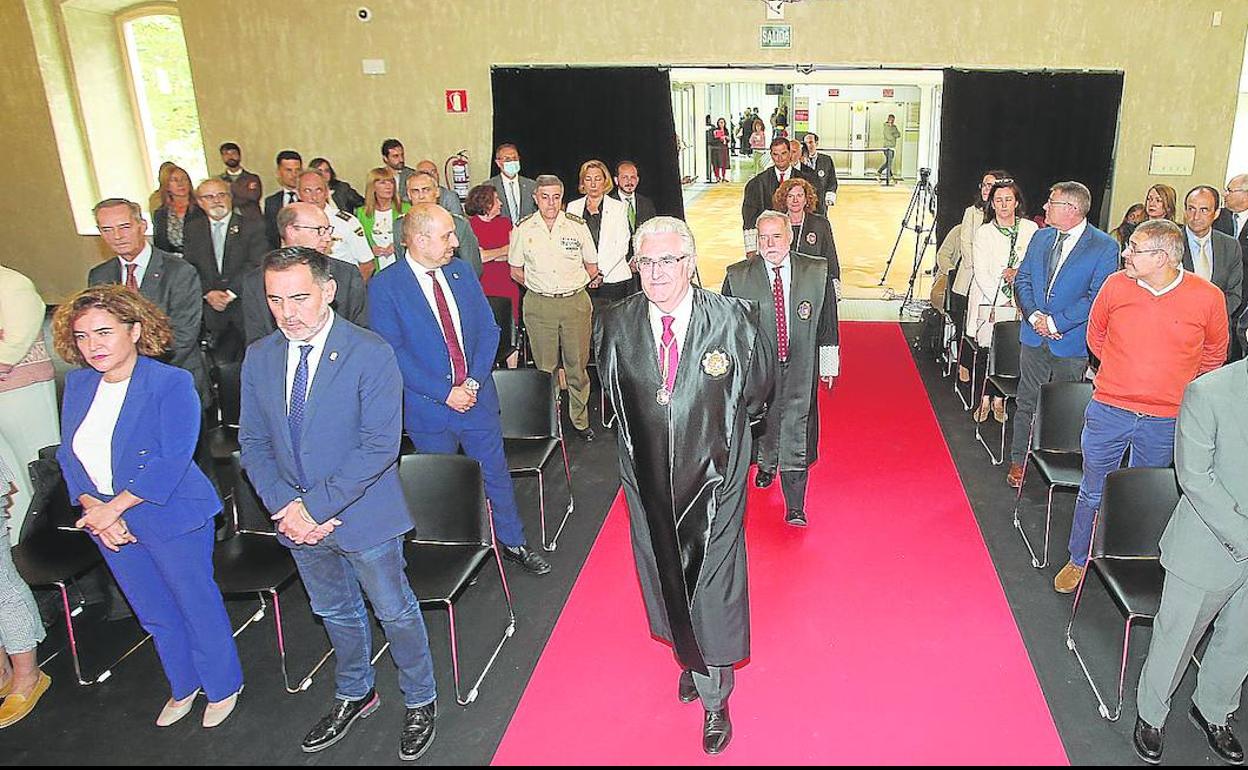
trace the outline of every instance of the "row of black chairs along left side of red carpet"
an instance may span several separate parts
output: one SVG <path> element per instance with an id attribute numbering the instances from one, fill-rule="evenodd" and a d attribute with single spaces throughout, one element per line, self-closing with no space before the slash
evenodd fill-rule
<path id="1" fill-rule="evenodd" d="M 213 554 L 215 572 L 222 594 L 227 597 L 255 594 L 260 600 L 257 610 L 235 630 L 235 636 L 262 620 L 272 605 L 282 680 L 287 693 L 295 694 L 312 685 L 313 676 L 333 650 L 331 648 L 321 655 L 307 674 L 297 679 L 291 678 L 286 660 L 280 593 L 295 582 L 297 570 L 288 549 L 278 543 L 272 523 L 241 467 L 237 444 L 240 369 L 237 363 L 220 364 L 213 369 L 221 424 L 213 428 L 210 438 L 227 498 L 226 527 Z M 559 534 L 574 509 L 572 468 L 559 423 L 554 379 L 539 369 L 498 369 L 494 372 L 494 382 L 502 402 L 508 465 L 513 475 L 538 477 L 542 543 L 547 550 L 554 550 Z M 74 618 L 82 608 L 71 603 L 69 588 L 75 579 L 97 568 L 102 557 L 90 538 L 72 527 L 77 515 L 56 464 L 55 449 L 55 447 L 45 449 L 40 459 L 31 463 L 36 503 L 22 524 L 20 543 L 14 547 L 12 557 L 27 584 L 36 589 L 51 588 L 59 592 L 67 649 L 77 681 L 80 685 L 94 685 L 107 680 L 112 675 L 112 669 L 140 649 L 150 636 L 142 638 L 99 674 L 84 674 L 74 624 Z M 543 473 L 557 449 L 563 453 L 568 507 L 554 535 L 548 539 Z M 503 645 L 515 633 L 515 613 L 494 539 L 480 467 L 464 456 L 404 452 L 399 457 L 399 479 L 412 517 L 412 532 L 404 544 L 408 578 L 422 609 L 444 608 L 448 613 L 456 700 L 461 705 L 468 705 L 475 700 L 480 683 Z M 494 562 L 502 580 L 507 625 L 480 674 L 466 691 L 461 680 L 454 605 L 490 560 Z M 387 646 L 382 646 L 377 658 L 386 649 Z M 60 651 L 44 663 L 57 654 Z"/>

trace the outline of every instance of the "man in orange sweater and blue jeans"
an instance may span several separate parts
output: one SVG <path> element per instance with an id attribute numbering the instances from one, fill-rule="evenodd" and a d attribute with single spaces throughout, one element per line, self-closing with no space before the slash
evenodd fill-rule
<path id="1" fill-rule="evenodd" d="M 1174 418 L 1183 388 L 1227 359 L 1222 290 L 1183 270 L 1183 231 L 1144 222 L 1123 251 L 1126 270 L 1104 282 L 1088 317 L 1088 349 L 1101 359 L 1083 421 L 1083 482 L 1071 525 L 1071 560 L 1053 588 L 1080 584 L 1104 477 L 1122 464 L 1164 468 L 1174 459 Z"/>

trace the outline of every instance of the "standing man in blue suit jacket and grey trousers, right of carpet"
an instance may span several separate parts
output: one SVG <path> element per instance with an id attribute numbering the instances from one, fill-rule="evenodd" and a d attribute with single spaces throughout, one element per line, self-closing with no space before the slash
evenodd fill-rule
<path id="1" fill-rule="evenodd" d="M 1028 427 L 1046 382 L 1080 382 L 1088 368 L 1088 312 L 1101 285 L 1118 270 L 1118 245 L 1088 223 L 1092 193 L 1080 182 L 1048 190 L 1048 227 L 1027 246 L 1015 297 L 1022 309 L 1018 407 L 1010 447 L 1011 487 L 1022 484 Z"/>

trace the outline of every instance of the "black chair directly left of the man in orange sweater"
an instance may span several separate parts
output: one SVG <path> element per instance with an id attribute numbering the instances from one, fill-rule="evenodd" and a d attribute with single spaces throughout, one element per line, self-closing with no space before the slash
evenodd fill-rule
<path id="1" fill-rule="evenodd" d="M 1053 490 L 1078 492 L 1083 482 L 1083 413 L 1092 401 L 1090 382 L 1046 382 L 1040 386 L 1036 413 L 1032 414 L 1027 433 L 1027 454 L 1022 459 L 1022 478 L 1015 494 L 1015 529 L 1031 554 L 1036 569 L 1048 567 L 1048 533 L 1053 520 Z M 1015 426 L 1015 431 L 1018 426 Z M 1022 488 L 1027 483 L 1027 469 L 1036 468 L 1040 480 L 1048 487 L 1045 500 L 1045 543 L 1037 555 L 1023 532 L 1018 510 L 1022 505 Z"/>

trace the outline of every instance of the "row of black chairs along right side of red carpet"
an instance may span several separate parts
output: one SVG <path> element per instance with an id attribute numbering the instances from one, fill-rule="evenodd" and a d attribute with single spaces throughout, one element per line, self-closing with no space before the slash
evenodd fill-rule
<path id="1" fill-rule="evenodd" d="M 983 396 L 1001 397 L 1007 403 L 1016 399 L 1020 378 L 1018 332 L 1018 321 L 1001 321 L 993 324 L 992 343 L 987 351 L 987 373 L 980 384 L 980 398 L 975 398 L 973 377 L 971 388 L 965 397 L 957 378 L 953 379 L 953 392 L 966 411 L 978 404 Z M 956 369 L 958 361 L 957 337 L 946 333 L 946 339 L 951 341 L 945 349 L 945 374 L 950 376 Z M 971 346 L 971 369 L 973 372 L 980 352 L 972 339 L 963 337 L 961 344 Z M 1032 422 L 1026 426 L 1028 431 L 1027 453 L 1023 458 L 1023 483 L 1020 484 L 1015 495 L 1013 525 L 1027 549 L 1031 565 L 1036 569 L 1043 569 L 1048 565 L 1053 493 L 1057 490 L 1077 493 L 1083 480 L 1081 437 L 1083 413 L 1091 399 L 1091 382 L 1042 384 Z M 1016 424 L 1013 429 L 1021 431 L 1023 428 L 1023 426 Z M 993 452 L 993 448 L 985 441 L 978 422 L 975 423 L 975 438 L 988 453 L 993 465 L 1005 462 L 1005 423 L 1001 426 L 998 452 Z M 1030 475 L 1040 478 L 1047 488 L 1043 540 L 1038 549 L 1027 537 L 1021 517 L 1023 488 Z M 1092 694 L 1096 696 L 1098 713 L 1109 721 L 1116 721 L 1122 714 L 1131 629 L 1138 624 L 1151 624 L 1161 607 L 1164 570 L 1161 565 L 1159 543 L 1178 499 L 1178 478 L 1173 468 L 1122 468 L 1112 472 L 1106 479 L 1101 509 L 1097 512 L 1093 525 L 1088 568 L 1076 589 L 1071 618 L 1066 626 L 1066 646 L 1075 654 Z M 1075 640 L 1075 620 L 1085 598 L 1085 590 L 1088 589 L 1090 575 L 1096 575 L 1096 580 L 1104 588 L 1126 621 L 1122 635 L 1122 659 L 1118 666 L 1117 703 L 1112 709 L 1106 701 L 1102 689 L 1097 686 L 1088 663 Z M 1194 658 L 1193 661 L 1199 665 Z"/>

